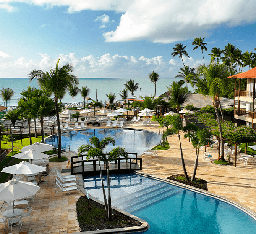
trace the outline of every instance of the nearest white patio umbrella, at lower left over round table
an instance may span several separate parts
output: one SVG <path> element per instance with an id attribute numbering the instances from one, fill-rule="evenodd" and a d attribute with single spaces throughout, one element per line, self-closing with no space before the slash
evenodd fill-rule
<path id="1" fill-rule="evenodd" d="M 39 186 L 31 182 L 9 180 L 0 184 L 0 200 L 14 201 L 25 197 L 33 196 L 40 189 Z M 14 202 L 13 202 L 14 212 Z"/>

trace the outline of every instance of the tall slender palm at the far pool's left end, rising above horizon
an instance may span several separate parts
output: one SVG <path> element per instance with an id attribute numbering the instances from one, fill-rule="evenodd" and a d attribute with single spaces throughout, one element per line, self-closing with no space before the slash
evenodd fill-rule
<path id="1" fill-rule="evenodd" d="M 57 116 L 58 126 L 58 158 L 61 158 L 61 130 L 60 130 L 60 117 L 58 111 L 58 99 L 68 89 L 68 87 L 79 84 L 78 78 L 73 74 L 73 65 L 65 64 L 63 67 L 59 67 L 60 58 L 56 62 L 55 68 L 50 68 L 49 72 L 42 70 L 32 70 L 29 73 L 29 81 L 31 82 L 34 78 L 40 87 L 44 87 L 49 92 L 54 94 L 55 110 Z"/>

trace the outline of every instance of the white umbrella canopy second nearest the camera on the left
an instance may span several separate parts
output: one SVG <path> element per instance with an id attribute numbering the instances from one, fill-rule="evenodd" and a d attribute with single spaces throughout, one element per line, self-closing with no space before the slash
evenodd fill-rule
<path id="1" fill-rule="evenodd" d="M 28 162 L 20 162 L 13 166 L 3 168 L 1 172 L 10 173 L 10 174 L 34 174 L 34 173 L 39 173 L 44 171 L 45 171 L 45 167 L 34 165 Z"/>

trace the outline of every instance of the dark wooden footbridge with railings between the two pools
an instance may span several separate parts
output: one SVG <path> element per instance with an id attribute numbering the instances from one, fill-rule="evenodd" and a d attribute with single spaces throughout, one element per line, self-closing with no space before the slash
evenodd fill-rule
<path id="1" fill-rule="evenodd" d="M 131 172 L 135 170 L 142 170 L 142 158 L 137 158 L 137 153 L 128 153 L 135 155 L 135 157 L 117 158 L 114 162 L 111 162 L 109 171 L 112 174 Z M 74 161 L 75 158 L 81 158 L 79 161 Z M 86 155 L 72 156 L 71 157 L 71 174 L 83 174 L 83 175 L 96 175 L 99 174 L 98 159 L 86 160 Z M 138 164 L 139 161 L 139 164 Z M 91 162 L 90 164 L 85 164 Z M 107 173 L 107 164 L 102 161 L 101 170 L 102 174 Z"/>

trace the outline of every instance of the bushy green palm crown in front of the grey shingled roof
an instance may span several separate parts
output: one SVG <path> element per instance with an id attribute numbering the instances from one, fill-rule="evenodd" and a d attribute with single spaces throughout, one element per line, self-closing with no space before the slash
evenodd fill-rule
<path id="1" fill-rule="evenodd" d="M 176 108 L 177 113 L 181 105 L 188 99 L 188 94 L 190 93 L 186 87 L 182 88 L 181 85 L 181 83 L 173 81 L 170 84 L 171 87 L 167 87 L 170 92 L 170 96 L 167 96 L 167 98 L 169 99 L 170 105 Z"/>

